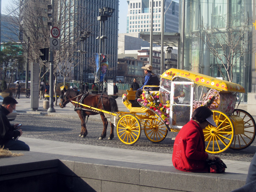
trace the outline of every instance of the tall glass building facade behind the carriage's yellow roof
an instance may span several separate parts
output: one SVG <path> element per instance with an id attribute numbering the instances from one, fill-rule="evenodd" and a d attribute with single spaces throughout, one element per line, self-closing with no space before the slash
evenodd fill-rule
<path id="1" fill-rule="evenodd" d="M 230 80 L 251 92 L 252 5 L 251 0 L 180 0 L 179 68 Z M 227 63 L 232 67 L 225 69 Z"/>

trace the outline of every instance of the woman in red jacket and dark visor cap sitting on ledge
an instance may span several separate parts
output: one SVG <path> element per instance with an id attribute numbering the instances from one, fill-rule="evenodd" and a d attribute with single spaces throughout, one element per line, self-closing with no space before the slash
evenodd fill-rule
<path id="1" fill-rule="evenodd" d="M 192 119 L 185 124 L 174 141 L 173 166 L 185 172 L 208 172 L 206 159 L 215 160 L 216 156 L 205 152 L 203 129 L 208 124 L 217 127 L 212 111 L 201 106 L 192 113 Z"/>

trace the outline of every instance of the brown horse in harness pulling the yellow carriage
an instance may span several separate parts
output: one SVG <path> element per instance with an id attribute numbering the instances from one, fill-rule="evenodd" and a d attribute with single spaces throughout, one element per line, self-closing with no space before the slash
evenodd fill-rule
<path id="1" fill-rule="evenodd" d="M 109 97 L 108 95 L 82 93 L 72 89 L 66 90 L 64 88 L 64 90 L 61 91 L 60 107 L 64 108 L 67 105 L 67 103 L 69 103 L 70 101 L 76 101 L 84 105 L 88 105 L 97 109 L 103 109 L 109 112 L 118 111 L 116 100 L 112 97 Z M 86 108 L 82 105 L 78 105 L 74 102 L 72 102 L 72 104 L 75 106 L 75 111 L 76 113 L 78 113 L 78 116 L 80 117 L 80 120 L 81 120 L 82 129 L 79 137 L 83 138 L 83 137 L 86 137 L 87 135 L 87 129 L 86 129 L 86 123 L 85 123 L 86 116 L 100 114 L 103 122 L 103 131 L 99 139 L 105 138 L 107 127 L 108 127 L 108 120 L 105 117 L 104 113 L 93 112 L 91 109 Z M 113 139 L 114 125 L 110 122 L 110 126 L 111 126 L 111 132 L 108 139 Z"/>

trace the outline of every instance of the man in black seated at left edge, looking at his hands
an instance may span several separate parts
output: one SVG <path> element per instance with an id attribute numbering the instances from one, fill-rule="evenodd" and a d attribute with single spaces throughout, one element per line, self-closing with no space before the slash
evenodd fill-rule
<path id="1" fill-rule="evenodd" d="M 14 140 L 22 135 L 22 129 L 16 130 L 19 124 L 11 125 L 6 117 L 16 108 L 18 102 L 16 99 L 8 96 L 3 99 L 3 104 L 0 105 L 0 146 L 9 150 L 29 151 L 29 146 L 20 140 Z"/>

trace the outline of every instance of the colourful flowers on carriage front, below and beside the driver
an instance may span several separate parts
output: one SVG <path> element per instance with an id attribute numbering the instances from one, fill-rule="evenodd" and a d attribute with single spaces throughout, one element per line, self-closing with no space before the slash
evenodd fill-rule
<path id="1" fill-rule="evenodd" d="M 169 125 L 169 112 L 170 112 L 170 101 L 166 101 L 166 105 L 163 105 L 159 100 L 159 92 L 151 93 L 152 97 L 149 99 L 145 98 L 145 94 L 142 93 L 142 99 L 137 99 L 142 106 L 154 110 L 165 122 L 166 125 Z"/>

